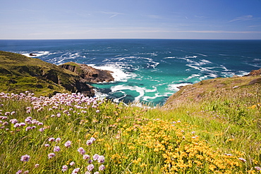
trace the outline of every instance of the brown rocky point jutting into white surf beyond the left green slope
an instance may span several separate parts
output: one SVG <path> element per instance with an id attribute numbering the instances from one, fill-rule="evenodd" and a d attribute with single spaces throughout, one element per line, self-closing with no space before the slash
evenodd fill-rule
<path id="1" fill-rule="evenodd" d="M 111 75 L 112 72 L 109 70 L 98 70 L 85 64 L 73 62 L 64 63 L 60 67 L 70 70 L 73 73 L 77 73 L 81 78 L 83 78 L 83 82 L 97 83 L 114 81 L 114 77 Z"/>

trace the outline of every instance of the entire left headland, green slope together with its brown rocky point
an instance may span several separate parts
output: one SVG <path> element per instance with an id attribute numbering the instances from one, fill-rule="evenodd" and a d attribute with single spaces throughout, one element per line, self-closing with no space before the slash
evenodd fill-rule
<path id="1" fill-rule="evenodd" d="M 0 51 L 1 92 L 20 93 L 30 90 L 42 96 L 58 92 L 81 92 L 93 97 L 94 87 L 87 82 L 114 80 L 108 71 L 78 63 L 74 65 L 72 70 L 73 66 L 56 66 L 39 58 Z"/>

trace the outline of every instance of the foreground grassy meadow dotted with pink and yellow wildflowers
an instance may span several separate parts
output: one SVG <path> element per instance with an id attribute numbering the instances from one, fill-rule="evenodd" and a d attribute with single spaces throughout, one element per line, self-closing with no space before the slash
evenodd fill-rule
<path id="1" fill-rule="evenodd" d="M 260 94 L 225 93 L 166 109 L 2 92 L 0 171 L 261 173 Z"/>

